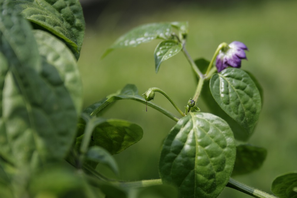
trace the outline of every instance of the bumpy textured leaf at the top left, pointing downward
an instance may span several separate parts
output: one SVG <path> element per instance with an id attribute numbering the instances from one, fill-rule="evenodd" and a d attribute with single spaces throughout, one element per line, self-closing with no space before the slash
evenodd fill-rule
<path id="1" fill-rule="evenodd" d="M 21 12 L 27 20 L 63 39 L 78 59 L 85 30 L 83 11 L 79 1 L 30 1 L 14 1 L 14 9 Z"/>

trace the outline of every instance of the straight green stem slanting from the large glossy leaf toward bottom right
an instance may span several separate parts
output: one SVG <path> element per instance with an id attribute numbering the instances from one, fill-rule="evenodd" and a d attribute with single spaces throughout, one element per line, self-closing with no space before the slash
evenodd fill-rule
<path id="1" fill-rule="evenodd" d="M 236 189 L 238 191 L 241 191 L 245 194 L 248 194 L 248 195 L 250 195 L 252 197 L 256 197 L 256 198 L 277 198 L 274 195 L 271 195 L 266 192 L 255 189 L 253 187 L 247 186 L 247 185 L 240 183 L 232 178 L 229 178 L 229 181 L 226 186 L 229 188 Z"/>

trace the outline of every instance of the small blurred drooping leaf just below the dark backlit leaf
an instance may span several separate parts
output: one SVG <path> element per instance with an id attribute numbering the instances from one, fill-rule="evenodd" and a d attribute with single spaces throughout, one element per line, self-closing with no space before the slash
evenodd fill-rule
<path id="1" fill-rule="evenodd" d="M 86 153 L 86 159 L 95 162 L 95 164 L 105 164 L 119 174 L 119 168 L 115 159 L 104 148 L 99 146 L 92 146 Z"/>

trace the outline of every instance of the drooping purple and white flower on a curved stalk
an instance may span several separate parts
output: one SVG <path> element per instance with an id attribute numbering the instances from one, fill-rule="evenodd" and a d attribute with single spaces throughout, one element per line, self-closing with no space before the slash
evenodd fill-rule
<path id="1" fill-rule="evenodd" d="M 239 41 L 233 41 L 227 47 L 220 50 L 216 60 L 218 72 L 228 66 L 240 68 L 241 59 L 247 59 L 244 50 L 248 50 L 247 46 Z"/>

